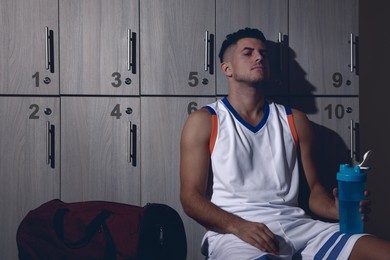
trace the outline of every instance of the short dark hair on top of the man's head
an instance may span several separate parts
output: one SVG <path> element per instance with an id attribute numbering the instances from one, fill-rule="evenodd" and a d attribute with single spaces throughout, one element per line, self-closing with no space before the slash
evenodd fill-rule
<path id="1" fill-rule="evenodd" d="M 234 32 L 232 34 L 228 34 L 226 36 L 226 39 L 223 41 L 221 49 L 218 54 L 221 63 L 223 62 L 223 55 L 225 54 L 226 49 L 229 48 L 229 46 L 236 44 L 237 41 L 242 38 L 258 39 L 262 41 L 264 44 L 267 42 L 264 34 L 258 29 L 245 28 L 245 29 L 240 29 L 237 32 Z"/>

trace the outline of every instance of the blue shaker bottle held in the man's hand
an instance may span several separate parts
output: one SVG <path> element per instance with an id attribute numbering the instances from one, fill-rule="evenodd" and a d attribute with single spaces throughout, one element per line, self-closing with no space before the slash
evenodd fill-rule
<path id="1" fill-rule="evenodd" d="M 363 216 L 359 212 L 360 201 L 364 200 L 367 174 L 361 168 L 341 164 L 337 173 L 339 197 L 340 232 L 360 234 L 364 232 Z"/>

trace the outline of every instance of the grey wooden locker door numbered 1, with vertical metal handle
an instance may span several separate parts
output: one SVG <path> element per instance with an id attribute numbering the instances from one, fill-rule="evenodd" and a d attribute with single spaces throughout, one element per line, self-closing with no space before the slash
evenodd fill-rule
<path id="1" fill-rule="evenodd" d="M 58 94 L 58 2 L 0 2 L 0 94 Z"/>

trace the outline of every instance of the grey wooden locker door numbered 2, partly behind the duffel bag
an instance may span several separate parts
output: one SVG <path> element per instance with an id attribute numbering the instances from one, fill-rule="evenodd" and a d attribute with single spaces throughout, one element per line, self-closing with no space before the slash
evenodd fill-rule
<path id="1" fill-rule="evenodd" d="M 0 252 L 17 259 L 16 231 L 29 210 L 59 198 L 59 99 L 0 97 Z"/>

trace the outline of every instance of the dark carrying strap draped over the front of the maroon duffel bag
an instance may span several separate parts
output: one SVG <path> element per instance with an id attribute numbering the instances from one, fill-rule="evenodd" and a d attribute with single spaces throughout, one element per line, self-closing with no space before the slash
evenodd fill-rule
<path id="1" fill-rule="evenodd" d="M 109 210 L 102 210 L 86 227 L 85 235 L 78 241 L 67 241 L 64 235 L 64 218 L 67 212 L 70 210 L 68 208 L 58 209 L 54 215 L 54 230 L 56 232 L 57 238 L 64 243 L 65 246 L 72 249 L 77 249 L 86 246 L 92 238 L 100 230 L 103 231 L 104 238 L 106 241 L 106 248 L 104 252 L 104 259 L 115 259 L 116 258 L 116 248 L 114 240 L 112 239 L 110 230 L 107 227 L 105 220 L 111 215 Z"/>

